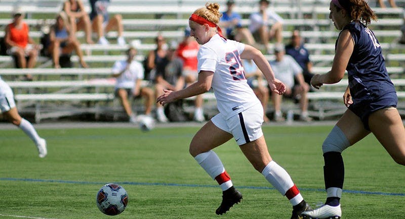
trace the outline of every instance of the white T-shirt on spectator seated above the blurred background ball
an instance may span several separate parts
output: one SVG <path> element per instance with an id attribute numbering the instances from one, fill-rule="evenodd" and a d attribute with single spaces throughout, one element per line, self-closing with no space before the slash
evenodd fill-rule
<path id="1" fill-rule="evenodd" d="M 127 60 L 116 61 L 114 63 L 114 66 L 112 67 L 112 73 L 118 74 L 119 72 L 127 68 L 127 65 Z M 138 79 L 143 79 L 143 77 L 144 70 L 142 64 L 137 61 L 132 61 L 130 64 L 130 68 L 116 79 L 115 88 L 133 89 L 135 87 L 135 81 Z"/>

